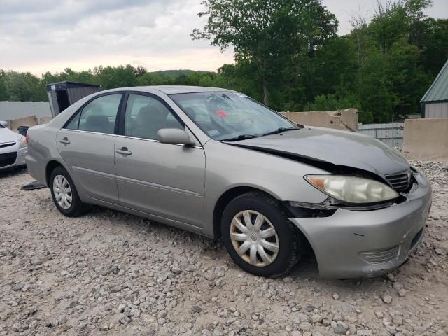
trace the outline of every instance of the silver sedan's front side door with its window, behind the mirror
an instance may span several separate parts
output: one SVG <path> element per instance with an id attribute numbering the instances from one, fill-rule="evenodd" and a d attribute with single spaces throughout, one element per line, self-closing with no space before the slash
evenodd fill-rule
<path id="1" fill-rule="evenodd" d="M 123 134 L 117 136 L 115 144 L 120 204 L 200 227 L 204 207 L 204 150 L 200 146 L 158 141 L 158 130 L 176 127 L 185 126 L 160 98 L 128 96 Z"/>

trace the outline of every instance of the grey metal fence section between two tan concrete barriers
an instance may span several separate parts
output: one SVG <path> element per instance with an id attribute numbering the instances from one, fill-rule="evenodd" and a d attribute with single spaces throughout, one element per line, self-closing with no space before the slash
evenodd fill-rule
<path id="1" fill-rule="evenodd" d="M 403 146 L 404 123 L 360 125 L 358 132 L 377 138 L 391 147 Z"/>

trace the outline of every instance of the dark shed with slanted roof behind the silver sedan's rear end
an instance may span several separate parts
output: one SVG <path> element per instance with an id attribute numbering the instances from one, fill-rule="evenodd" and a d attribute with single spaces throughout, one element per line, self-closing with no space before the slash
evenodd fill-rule
<path id="1" fill-rule="evenodd" d="M 74 102 L 99 91 L 99 85 L 76 82 L 58 82 L 45 85 L 53 118 Z"/>

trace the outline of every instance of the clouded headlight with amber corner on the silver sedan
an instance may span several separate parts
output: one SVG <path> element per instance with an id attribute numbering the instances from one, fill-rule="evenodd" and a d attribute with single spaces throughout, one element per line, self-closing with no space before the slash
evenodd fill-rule
<path id="1" fill-rule="evenodd" d="M 349 203 L 374 203 L 397 198 L 398 193 L 384 183 L 343 175 L 307 175 L 305 179 L 323 193 Z"/>

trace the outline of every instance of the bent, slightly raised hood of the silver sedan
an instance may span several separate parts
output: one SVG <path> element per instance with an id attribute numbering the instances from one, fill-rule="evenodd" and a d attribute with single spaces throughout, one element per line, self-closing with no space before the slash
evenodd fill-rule
<path id="1" fill-rule="evenodd" d="M 269 153 L 289 153 L 305 162 L 311 159 L 332 165 L 355 167 L 384 176 L 409 169 L 409 163 L 397 151 L 381 141 L 356 132 L 322 127 L 246 139 L 233 143 Z"/>

